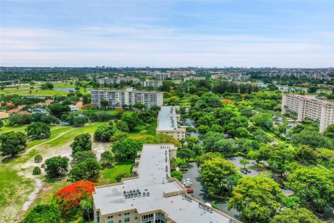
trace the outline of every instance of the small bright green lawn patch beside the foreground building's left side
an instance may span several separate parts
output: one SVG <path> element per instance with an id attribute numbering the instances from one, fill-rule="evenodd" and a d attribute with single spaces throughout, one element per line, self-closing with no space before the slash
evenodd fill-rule
<path id="1" fill-rule="evenodd" d="M 119 174 L 131 174 L 133 160 L 120 162 L 116 167 L 110 169 L 102 169 L 100 171 L 99 185 L 117 183 L 115 177 Z"/>

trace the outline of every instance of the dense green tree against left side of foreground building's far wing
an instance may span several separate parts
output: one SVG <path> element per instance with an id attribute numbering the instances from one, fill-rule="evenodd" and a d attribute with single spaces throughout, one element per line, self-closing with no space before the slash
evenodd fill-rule
<path id="1" fill-rule="evenodd" d="M 137 155 L 137 151 L 141 151 L 143 143 L 135 139 L 124 139 L 113 145 L 113 153 L 118 160 L 131 160 Z"/>

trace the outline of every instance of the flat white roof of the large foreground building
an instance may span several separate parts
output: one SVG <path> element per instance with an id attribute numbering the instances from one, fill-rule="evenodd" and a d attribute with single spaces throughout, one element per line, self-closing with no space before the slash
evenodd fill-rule
<path id="1" fill-rule="evenodd" d="M 122 180 L 122 183 L 115 185 L 95 187 L 95 193 L 93 193 L 95 208 L 100 208 L 102 215 L 135 208 L 138 214 L 163 210 L 168 217 L 178 223 L 229 222 L 230 217 L 227 215 L 209 208 L 202 208 L 200 203 L 190 199 L 187 194 L 180 194 L 184 188 L 177 181 L 168 182 L 170 176 L 169 149 L 176 148 L 173 144 L 145 144 L 138 166 L 138 178 L 125 179 Z M 137 189 L 141 192 L 141 196 L 125 198 L 125 192 Z M 143 192 L 149 192 L 150 195 L 143 196 Z M 175 192 L 177 195 L 164 197 L 164 193 L 170 192 Z"/>

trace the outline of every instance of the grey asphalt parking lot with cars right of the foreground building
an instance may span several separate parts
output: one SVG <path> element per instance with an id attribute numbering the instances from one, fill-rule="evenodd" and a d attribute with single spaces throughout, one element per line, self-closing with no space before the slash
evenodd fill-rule
<path id="1" fill-rule="evenodd" d="M 216 201 L 218 209 L 221 212 L 234 217 L 237 220 L 241 219 L 241 215 L 238 213 L 237 210 L 231 209 L 228 210 L 228 201 L 223 199 L 217 199 L 211 197 L 207 192 L 205 185 L 203 184 L 202 180 L 198 177 L 200 176 L 200 169 L 196 166 L 195 162 L 191 162 L 191 167 L 189 168 L 188 173 L 183 174 L 183 178 L 191 178 L 193 185 L 193 197 L 200 201 L 204 201 L 205 203 L 212 203 L 212 201 Z"/>

